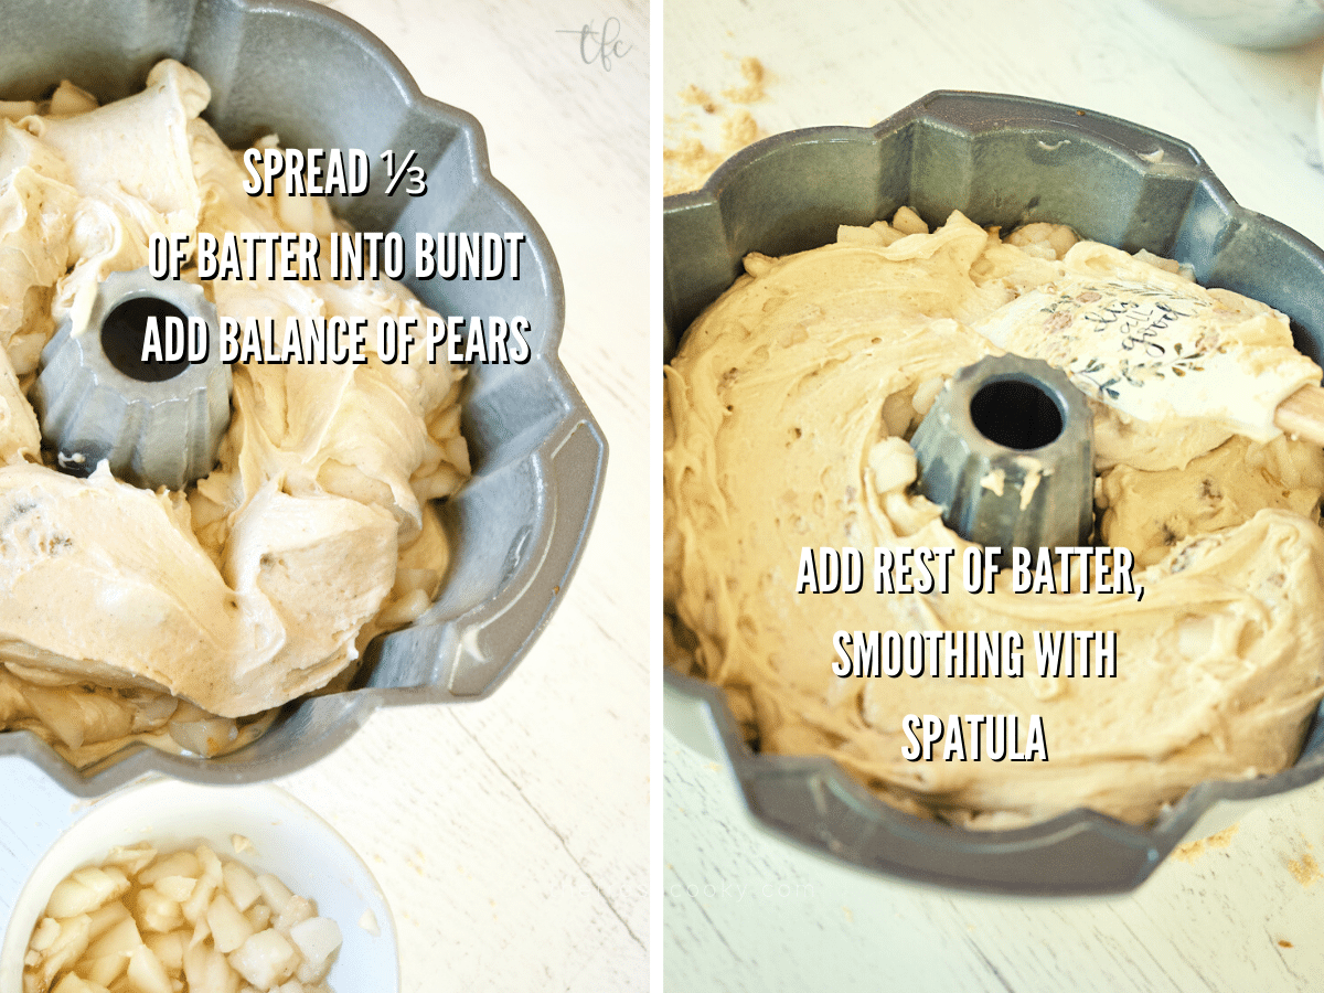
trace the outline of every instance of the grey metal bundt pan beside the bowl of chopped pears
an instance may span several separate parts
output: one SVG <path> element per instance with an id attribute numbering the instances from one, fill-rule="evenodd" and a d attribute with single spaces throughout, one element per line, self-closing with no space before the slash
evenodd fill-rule
<path id="1" fill-rule="evenodd" d="M 216 759 L 135 745 L 82 772 L 26 732 L 0 755 L 29 757 L 62 786 L 97 796 L 147 772 L 199 782 L 254 782 L 324 756 L 377 707 L 491 692 L 528 650 L 575 569 L 601 494 L 606 444 L 556 350 L 565 316 L 547 237 L 489 172 L 478 122 L 430 99 L 354 21 L 298 0 L 9 0 L 0 94 L 41 97 L 70 79 L 99 99 L 143 87 L 173 57 L 212 87 L 204 117 L 232 147 L 275 131 L 286 147 L 361 148 L 372 185 L 332 209 L 360 230 L 523 232 L 518 281 L 430 281 L 410 289 L 441 314 L 528 318 L 532 359 L 473 365 L 462 430 L 473 478 L 442 508 L 451 563 L 430 609 L 376 638 L 351 687 L 286 706 L 271 728 Z M 424 196 L 385 195 L 384 150 L 417 152 Z"/>

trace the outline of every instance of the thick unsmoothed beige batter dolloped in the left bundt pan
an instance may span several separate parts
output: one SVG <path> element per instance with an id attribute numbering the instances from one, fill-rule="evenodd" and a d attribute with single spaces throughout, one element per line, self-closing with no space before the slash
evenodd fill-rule
<path id="1" fill-rule="evenodd" d="M 185 493 L 41 463 L 23 393 L 41 347 L 107 273 L 147 263 L 152 233 L 343 229 L 324 200 L 246 196 L 199 118 L 209 97 L 166 61 L 105 107 L 68 85 L 0 103 L 0 724 L 79 763 L 126 733 L 233 747 L 233 719 L 344 673 L 430 602 L 446 542 L 428 500 L 469 473 L 461 372 L 424 350 L 383 364 L 371 334 L 364 365 L 236 365 L 220 465 Z M 388 281 L 205 289 L 241 326 L 429 312 Z"/>

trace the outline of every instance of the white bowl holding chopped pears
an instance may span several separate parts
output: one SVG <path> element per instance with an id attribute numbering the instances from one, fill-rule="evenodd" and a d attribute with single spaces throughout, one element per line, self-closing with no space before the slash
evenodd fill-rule
<path id="1" fill-rule="evenodd" d="M 234 854 L 236 834 L 253 842 L 252 850 L 238 855 L 242 862 L 256 873 L 277 875 L 315 902 L 320 916 L 340 925 L 343 944 L 327 977 L 331 989 L 399 992 L 391 908 L 363 859 L 331 825 L 277 786 L 151 780 L 93 804 L 37 863 L 9 915 L 0 951 L 0 993 L 21 993 L 23 956 L 32 929 L 52 890 L 69 873 L 99 863 L 114 845 L 142 841 L 159 851 L 207 842 L 228 858 Z"/>

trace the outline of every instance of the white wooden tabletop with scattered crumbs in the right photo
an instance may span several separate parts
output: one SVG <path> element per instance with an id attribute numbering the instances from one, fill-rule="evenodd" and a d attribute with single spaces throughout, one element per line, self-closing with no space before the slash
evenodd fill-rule
<path id="1" fill-rule="evenodd" d="M 665 4 L 665 144 L 869 126 L 937 89 L 1019 93 L 1192 143 L 1233 196 L 1324 245 L 1315 94 L 1324 44 L 1221 48 L 1141 0 Z M 765 98 L 722 93 L 739 62 Z M 694 85 L 715 111 L 679 94 Z M 663 973 L 674 990 L 1305 990 L 1324 988 L 1324 786 L 1246 816 L 1225 847 L 1135 894 L 974 898 L 863 876 L 751 826 L 728 776 L 667 735 Z"/>

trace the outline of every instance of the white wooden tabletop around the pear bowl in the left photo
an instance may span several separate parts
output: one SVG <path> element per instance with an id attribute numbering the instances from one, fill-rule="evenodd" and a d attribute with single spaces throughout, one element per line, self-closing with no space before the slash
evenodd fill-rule
<path id="1" fill-rule="evenodd" d="M 514 675 L 482 703 L 377 712 L 279 785 L 372 867 L 395 912 L 404 993 L 642 990 L 647 8 L 330 5 L 391 46 L 424 93 L 482 122 L 493 175 L 538 218 L 560 262 L 561 357 L 612 451 L 579 572 Z M 618 32 L 610 69 L 580 46 L 580 29 L 600 32 L 605 17 Z M 79 804 L 24 763 L 3 764 L 0 782 L 3 916 Z"/>

